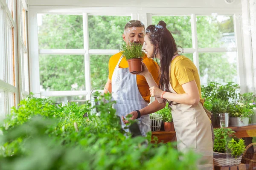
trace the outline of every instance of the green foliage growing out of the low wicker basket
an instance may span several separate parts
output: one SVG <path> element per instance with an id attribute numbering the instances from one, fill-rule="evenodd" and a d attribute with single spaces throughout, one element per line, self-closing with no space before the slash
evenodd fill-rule
<path id="1" fill-rule="evenodd" d="M 231 153 L 232 156 L 238 157 L 245 150 L 243 139 L 237 139 L 235 131 L 229 128 L 214 129 L 214 147 L 213 150 L 219 153 Z"/>

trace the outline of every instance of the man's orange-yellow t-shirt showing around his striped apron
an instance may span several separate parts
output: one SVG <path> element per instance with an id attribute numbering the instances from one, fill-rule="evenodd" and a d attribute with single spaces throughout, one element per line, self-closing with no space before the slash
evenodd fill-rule
<path id="1" fill-rule="evenodd" d="M 108 78 L 109 79 L 112 79 L 114 69 L 116 68 L 116 65 L 121 56 L 122 56 L 122 54 L 119 52 L 110 57 L 109 62 L 108 62 L 108 70 L 109 70 Z M 143 58 L 143 62 L 147 66 L 148 71 L 150 71 L 150 73 L 152 74 L 152 77 L 154 78 L 155 82 L 158 84 L 159 83 L 158 77 L 159 77 L 160 72 L 159 72 L 159 67 L 158 67 L 157 63 L 154 62 L 153 59 L 149 59 L 146 55 Z M 128 62 L 124 57 L 122 58 L 122 60 L 119 64 L 119 67 L 120 68 L 128 68 Z M 136 75 L 136 76 L 137 76 L 137 85 L 138 85 L 140 94 L 143 97 L 143 99 L 149 103 L 151 95 L 150 95 L 148 83 L 144 76 L 141 76 L 141 75 Z"/>

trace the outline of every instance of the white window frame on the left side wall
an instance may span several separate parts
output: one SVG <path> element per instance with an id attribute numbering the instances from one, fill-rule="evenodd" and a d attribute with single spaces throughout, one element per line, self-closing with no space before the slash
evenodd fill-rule
<path id="1" fill-rule="evenodd" d="M 17 27 L 16 27 L 16 3 L 15 1 L 13 1 L 13 17 L 12 17 L 12 11 L 10 11 L 8 4 L 6 3 L 6 0 L 0 0 L 0 6 L 3 7 L 3 20 L 1 20 L 1 26 L 3 26 L 3 48 L 1 48 L 1 50 L 3 50 L 3 54 L 4 54 L 4 80 L 0 79 L 0 89 L 2 89 L 4 91 L 4 114 L 9 114 L 11 112 L 11 107 L 12 106 L 17 106 L 18 102 L 19 102 L 19 93 L 18 93 L 18 76 L 17 76 L 17 36 L 16 36 L 16 31 L 17 31 Z M 7 34 L 7 27 L 10 27 L 11 29 L 13 29 L 13 36 L 11 38 L 11 42 L 9 39 L 9 35 Z M 12 34 L 12 32 L 11 32 Z M 14 47 L 12 47 L 12 45 L 14 45 Z M 13 48 L 13 54 L 14 54 L 14 61 L 13 61 L 13 54 L 11 53 L 9 48 Z M 9 53 L 9 54 L 8 54 Z M 11 55 L 11 56 L 10 56 Z M 3 61 L 2 61 L 3 62 Z M 10 63 L 12 64 L 12 68 L 10 67 Z M 13 71 L 13 68 L 15 68 L 15 70 Z M 12 70 L 12 75 L 10 74 L 10 70 Z M 15 77 L 14 77 L 15 75 Z M 15 78 L 15 80 L 13 80 L 13 78 Z M 10 80 L 12 81 L 12 84 L 10 83 Z M 15 81 L 15 82 L 14 82 Z M 15 99 L 13 97 L 10 98 L 10 93 L 14 93 L 15 94 Z M 15 101 L 14 101 L 15 100 Z M 5 116 L 4 115 L 4 116 Z"/>

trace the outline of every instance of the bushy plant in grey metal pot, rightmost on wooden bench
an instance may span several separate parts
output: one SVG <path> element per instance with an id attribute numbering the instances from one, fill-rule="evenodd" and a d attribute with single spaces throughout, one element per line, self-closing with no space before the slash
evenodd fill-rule
<path id="1" fill-rule="evenodd" d="M 253 115 L 253 110 L 250 105 L 233 103 L 230 108 L 230 126 L 248 126 L 251 115 Z"/>

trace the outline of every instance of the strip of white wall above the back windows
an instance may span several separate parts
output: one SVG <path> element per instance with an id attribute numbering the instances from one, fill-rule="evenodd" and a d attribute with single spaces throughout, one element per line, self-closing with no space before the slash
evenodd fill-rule
<path id="1" fill-rule="evenodd" d="M 29 0 L 29 5 L 241 8 L 241 0 L 235 0 L 232 4 L 227 4 L 224 0 Z"/>

